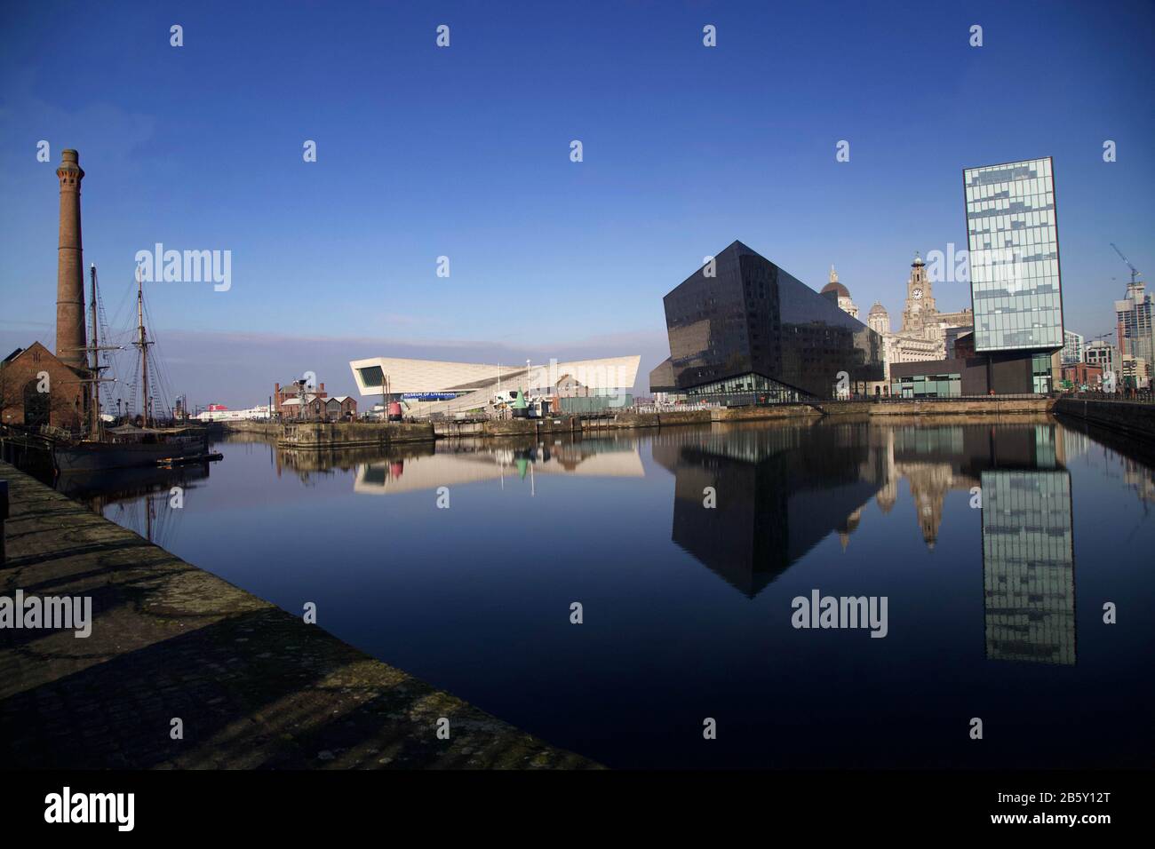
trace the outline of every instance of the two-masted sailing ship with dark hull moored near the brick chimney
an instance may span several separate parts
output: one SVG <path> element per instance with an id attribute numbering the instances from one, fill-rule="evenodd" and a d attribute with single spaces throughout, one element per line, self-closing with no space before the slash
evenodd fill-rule
<path id="1" fill-rule="evenodd" d="M 100 372 L 106 366 L 99 364 L 99 352 L 118 349 L 102 348 L 99 344 L 95 265 L 91 267 L 91 281 L 92 343 L 85 348 L 89 357 L 88 370 L 91 374 L 88 379 L 91 385 L 88 427 L 79 439 L 49 434 L 55 470 L 60 474 L 99 471 L 218 457 L 219 455 L 209 455 L 208 432 L 203 427 L 163 426 L 156 419 L 149 387 L 149 347 L 154 343 L 149 340 L 144 327 L 144 288 L 139 268 L 136 269 L 136 340 L 133 345 L 140 350 L 139 375 L 142 399 L 140 426 L 127 423 L 116 427 L 105 426 L 100 415 L 100 383 L 106 379 L 100 377 Z"/>

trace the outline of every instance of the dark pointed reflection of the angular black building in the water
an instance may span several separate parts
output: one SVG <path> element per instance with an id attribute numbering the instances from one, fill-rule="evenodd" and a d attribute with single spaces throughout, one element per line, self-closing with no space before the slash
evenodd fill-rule
<path id="1" fill-rule="evenodd" d="M 750 597 L 832 531 L 845 537 L 882 484 L 866 425 L 715 427 L 654 439 L 676 475 L 676 544 Z M 703 507 L 706 487 L 716 502 Z"/>

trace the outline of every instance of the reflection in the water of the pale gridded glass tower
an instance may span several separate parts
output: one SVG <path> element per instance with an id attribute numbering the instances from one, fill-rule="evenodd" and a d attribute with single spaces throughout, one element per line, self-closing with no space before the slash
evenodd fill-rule
<path id="1" fill-rule="evenodd" d="M 982 472 L 986 657 L 1073 665 L 1071 475 Z"/>

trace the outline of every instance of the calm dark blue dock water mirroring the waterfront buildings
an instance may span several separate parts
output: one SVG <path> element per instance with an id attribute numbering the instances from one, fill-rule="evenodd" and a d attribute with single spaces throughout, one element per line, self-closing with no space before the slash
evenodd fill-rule
<path id="1" fill-rule="evenodd" d="M 1043 416 L 246 438 L 74 492 L 612 767 L 1150 766 L 1155 476 L 1116 448 Z M 815 590 L 885 597 L 885 638 L 795 627 Z"/>

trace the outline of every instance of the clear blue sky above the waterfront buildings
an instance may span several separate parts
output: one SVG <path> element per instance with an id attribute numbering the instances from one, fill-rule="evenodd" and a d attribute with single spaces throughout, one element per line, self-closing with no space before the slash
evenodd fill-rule
<path id="1" fill-rule="evenodd" d="M 395 352 L 648 370 L 662 296 L 733 239 L 895 318 L 914 252 L 964 246 L 962 167 L 1048 155 L 1067 327 L 1097 335 L 1109 243 L 1155 268 L 1153 31 L 1149 2 L 6 5 L 0 343 L 51 345 L 66 147 L 110 313 L 136 251 L 232 252 L 228 292 L 150 292 L 195 403 L 351 392 Z"/>

